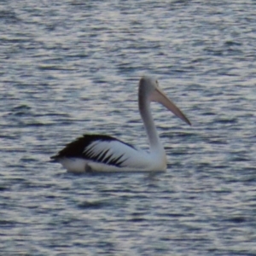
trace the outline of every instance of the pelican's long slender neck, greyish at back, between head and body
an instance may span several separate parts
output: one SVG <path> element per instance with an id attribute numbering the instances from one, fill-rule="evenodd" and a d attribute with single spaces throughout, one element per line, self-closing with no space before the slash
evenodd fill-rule
<path id="1" fill-rule="evenodd" d="M 162 144 L 160 143 L 160 138 L 154 125 L 154 119 L 150 111 L 149 99 L 147 96 L 140 92 L 138 97 L 139 111 L 142 116 L 143 124 L 147 132 L 150 151 L 153 151 L 154 149 L 164 149 Z"/>

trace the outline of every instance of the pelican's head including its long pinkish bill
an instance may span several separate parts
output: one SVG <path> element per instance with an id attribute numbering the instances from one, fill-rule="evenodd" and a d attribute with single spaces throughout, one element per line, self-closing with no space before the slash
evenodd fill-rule
<path id="1" fill-rule="evenodd" d="M 177 108 L 177 106 L 171 102 L 166 96 L 163 90 L 160 89 L 158 81 L 148 77 L 143 77 L 139 82 L 139 102 L 149 100 L 149 102 L 160 102 L 167 109 L 172 111 L 178 118 L 182 119 L 188 125 L 191 125 L 189 119 Z"/>

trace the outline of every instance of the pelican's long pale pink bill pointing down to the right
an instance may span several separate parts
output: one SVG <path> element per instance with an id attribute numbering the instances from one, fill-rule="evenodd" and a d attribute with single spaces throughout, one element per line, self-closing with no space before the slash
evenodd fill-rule
<path id="1" fill-rule="evenodd" d="M 178 118 L 182 119 L 188 125 L 191 125 L 189 119 L 183 114 L 183 112 L 177 108 L 177 106 L 166 96 L 166 94 L 159 87 L 156 87 L 150 96 L 152 102 L 159 102 L 167 109 L 172 111 Z"/>

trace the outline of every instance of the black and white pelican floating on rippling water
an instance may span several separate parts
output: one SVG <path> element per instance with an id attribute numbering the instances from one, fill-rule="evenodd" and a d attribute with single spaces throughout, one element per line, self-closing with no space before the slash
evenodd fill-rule
<path id="1" fill-rule="evenodd" d="M 166 152 L 154 125 L 150 102 L 160 102 L 188 125 L 189 119 L 168 99 L 158 81 L 143 77 L 138 86 L 138 108 L 148 136 L 149 151 L 100 134 L 85 134 L 67 144 L 52 160 L 67 172 L 166 171 Z"/>

